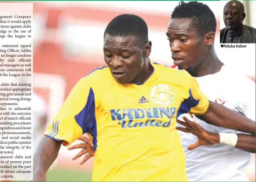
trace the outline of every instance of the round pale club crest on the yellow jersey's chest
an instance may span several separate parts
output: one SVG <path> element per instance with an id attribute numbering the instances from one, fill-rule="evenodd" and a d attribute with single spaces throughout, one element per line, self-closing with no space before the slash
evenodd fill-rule
<path id="1" fill-rule="evenodd" d="M 174 94 L 168 85 L 158 84 L 151 89 L 150 97 L 153 102 L 162 106 L 167 106 L 172 103 Z"/>

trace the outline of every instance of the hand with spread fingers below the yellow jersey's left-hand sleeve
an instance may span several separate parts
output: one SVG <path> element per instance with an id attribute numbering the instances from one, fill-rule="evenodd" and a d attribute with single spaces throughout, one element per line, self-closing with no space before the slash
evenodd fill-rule
<path id="1" fill-rule="evenodd" d="M 93 144 L 92 141 L 85 137 L 80 137 L 79 140 L 83 141 L 83 143 L 79 143 L 73 146 L 70 146 L 68 149 L 82 149 L 80 153 L 77 153 L 75 157 L 72 158 L 72 160 L 76 160 L 77 158 L 81 157 L 82 155 L 85 155 L 84 159 L 80 162 L 80 165 L 84 164 L 88 159 L 94 156 L 95 151 L 93 150 Z"/>

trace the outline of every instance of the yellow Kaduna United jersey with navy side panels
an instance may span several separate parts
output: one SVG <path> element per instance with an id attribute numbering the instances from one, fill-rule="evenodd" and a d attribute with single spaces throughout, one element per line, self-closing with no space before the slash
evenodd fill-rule
<path id="1" fill-rule="evenodd" d="M 45 135 L 70 145 L 93 137 L 92 181 L 188 181 L 176 118 L 208 98 L 185 70 L 151 63 L 143 84 L 119 84 L 107 66 L 81 78 Z"/>

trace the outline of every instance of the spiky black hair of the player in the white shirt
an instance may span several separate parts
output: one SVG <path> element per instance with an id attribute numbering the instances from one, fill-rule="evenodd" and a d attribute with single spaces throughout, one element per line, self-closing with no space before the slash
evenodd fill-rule
<path id="1" fill-rule="evenodd" d="M 212 10 L 197 1 L 181 1 L 172 12 L 172 18 L 191 18 L 194 28 L 202 36 L 209 32 L 216 33 L 216 18 Z"/>

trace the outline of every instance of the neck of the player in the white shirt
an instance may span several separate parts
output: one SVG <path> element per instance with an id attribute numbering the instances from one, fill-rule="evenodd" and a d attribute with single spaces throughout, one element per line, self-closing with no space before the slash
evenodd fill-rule
<path id="1" fill-rule="evenodd" d="M 214 50 L 196 68 L 190 71 L 191 76 L 200 77 L 220 71 L 224 64 L 219 60 Z"/>

